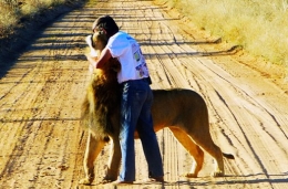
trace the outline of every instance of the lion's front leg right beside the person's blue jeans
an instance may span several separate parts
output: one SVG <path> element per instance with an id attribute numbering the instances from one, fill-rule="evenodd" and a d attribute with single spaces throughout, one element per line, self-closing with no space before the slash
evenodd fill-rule
<path id="1" fill-rule="evenodd" d="M 117 136 L 110 137 L 111 147 L 110 147 L 110 159 L 106 176 L 104 181 L 114 181 L 117 179 L 120 164 L 121 164 L 121 148 L 120 140 Z"/>

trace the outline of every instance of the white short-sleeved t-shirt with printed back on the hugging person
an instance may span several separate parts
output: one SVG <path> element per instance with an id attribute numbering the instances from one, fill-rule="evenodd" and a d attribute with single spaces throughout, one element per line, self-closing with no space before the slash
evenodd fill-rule
<path id="1" fill-rule="evenodd" d="M 121 63 L 121 71 L 117 74 L 119 83 L 128 80 L 148 77 L 148 69 L 135 39 L 123 31 L 119 31 L 109 39 L 106 49 L 113 57 Z"/>

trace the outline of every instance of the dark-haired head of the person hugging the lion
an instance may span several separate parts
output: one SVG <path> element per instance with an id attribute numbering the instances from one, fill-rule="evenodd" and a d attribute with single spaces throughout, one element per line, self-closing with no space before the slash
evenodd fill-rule
<path id="1" fill-rule="evenodd" d="M 119 25 L 110 15 L 102 15 L 97 18 L 92 24 L 93 32 L 100 32 L 107 35 L 107 38 L 119 32 Z"/>

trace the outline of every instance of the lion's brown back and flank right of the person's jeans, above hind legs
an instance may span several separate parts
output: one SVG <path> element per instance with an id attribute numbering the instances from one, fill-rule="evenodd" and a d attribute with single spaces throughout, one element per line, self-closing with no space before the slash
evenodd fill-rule
<path id="1" fill-rule="evenodd" d="M 173 88 L 153 90 L 153 94 L 152 115 L 157 128 L 192 125 L 198 127 L 199 125 L 195 124 L 198 120 L 202 127 L 208 126 L 207 106 L 198 93 L 192 90 Z"/>

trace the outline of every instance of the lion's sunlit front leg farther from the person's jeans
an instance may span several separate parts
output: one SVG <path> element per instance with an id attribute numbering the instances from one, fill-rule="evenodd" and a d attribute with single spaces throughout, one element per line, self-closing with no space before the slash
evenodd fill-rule
<path id="1" fill-rule="evenodd" d="M 94 180 L 94 160 L 96 159 L 97 155 L 104 147 L 105 141 L 102 139 L 95 138 L 91 132 L 89 132 L 88 136 L 88 144 L 86 144 L 86 151 L 84 156 L 84 171 L 85 178 L 80 180 L 82 185 L 91 185 Z"/>

